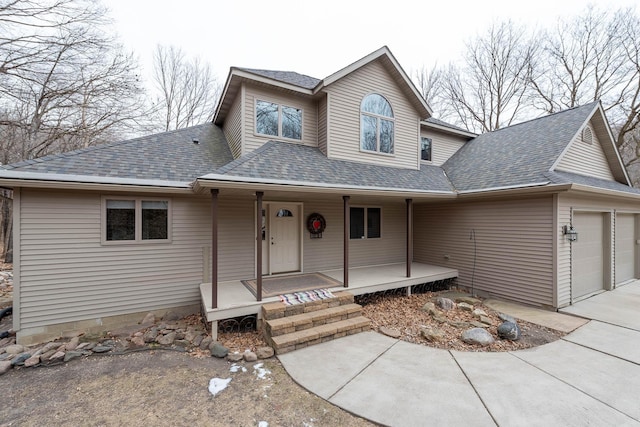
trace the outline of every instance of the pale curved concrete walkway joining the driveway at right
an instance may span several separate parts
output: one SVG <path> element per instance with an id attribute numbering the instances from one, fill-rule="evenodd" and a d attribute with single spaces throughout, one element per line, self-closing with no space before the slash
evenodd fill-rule
<path id="1" fill-rule="evenodd" d="M 640 426 L 640 282 L 562 311 L 594 320 L 514 352 L 447 351 L 367 332 L 279 359 L 309 391 L 389 426 Z M 563 328 L 584 323 L 549 314 Z"/>

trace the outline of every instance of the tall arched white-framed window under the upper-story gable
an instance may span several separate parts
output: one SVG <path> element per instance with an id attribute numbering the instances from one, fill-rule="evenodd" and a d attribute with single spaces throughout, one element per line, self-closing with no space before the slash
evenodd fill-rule
<path id="1" fill-rule="evenodd" d="M 360 149 L 393 154 L 393 110 L 382 95 L 372 93 L 360 105 Z"/>

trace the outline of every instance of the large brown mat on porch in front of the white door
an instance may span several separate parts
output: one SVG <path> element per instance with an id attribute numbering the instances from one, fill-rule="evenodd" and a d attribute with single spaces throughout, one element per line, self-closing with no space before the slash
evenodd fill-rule
<path id="1" fill-rule="evenodd" d="M 256 279 L 243 280 L 242 283 L 257 297 L 258 288 Z M 276 297 L 278 295 L 290 294 L 302 291 L 312 291 L 314 289 L 326 289 L 342 286 L 342 282 L 325 276 L 322 273 L 295 274 L 292 276 L 263 277 L 262 296 Z"/>

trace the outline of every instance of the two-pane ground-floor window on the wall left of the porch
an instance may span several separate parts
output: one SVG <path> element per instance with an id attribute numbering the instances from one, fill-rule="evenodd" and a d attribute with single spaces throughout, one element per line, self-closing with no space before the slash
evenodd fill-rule
<path id="1" fill-rule="evenodd" d="M 168 242 L 171 202 L 167 199 L 103 198 L 103 242 Z"/>

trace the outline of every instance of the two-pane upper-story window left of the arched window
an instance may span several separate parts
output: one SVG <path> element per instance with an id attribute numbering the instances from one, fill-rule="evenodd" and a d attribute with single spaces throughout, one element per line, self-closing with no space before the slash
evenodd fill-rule
<path id="1" fill-rule="evenodd" d="M 256 101 L 256 133 L 302 139 L 302 109 Z"/>

